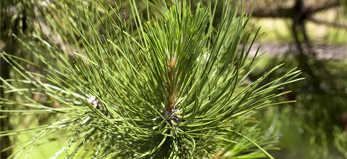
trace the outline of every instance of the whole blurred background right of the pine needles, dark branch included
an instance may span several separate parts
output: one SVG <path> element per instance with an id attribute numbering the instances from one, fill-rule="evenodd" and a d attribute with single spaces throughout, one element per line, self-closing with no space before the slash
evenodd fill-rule
<path id="1" fill-rule="evenodd" d="M 250 78 L 256 79 L 279 62 L 286 64 L 281 71 L 298 66 L 306 78 L 287 84 L 283 91 L 292 92 L 278 99 L 297 102 L 258 114 L 264 125 L 271 126 L 268 134 L 283 135 L 282 150 L 273 154 L 277 158 L 347 158 L 346 1 L 256 1 L 252 16 L 254 24 L 263 26 L 265 33 L 258 42 L 269 53 L 263 57 L 266 65 Z"/>

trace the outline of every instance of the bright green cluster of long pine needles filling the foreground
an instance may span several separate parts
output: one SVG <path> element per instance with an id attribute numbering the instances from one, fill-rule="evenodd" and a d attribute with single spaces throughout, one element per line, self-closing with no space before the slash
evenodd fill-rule
<path id="1" fill-rule="evenodd" d="M 73 158 L 81 151 L 79 158 L 273 158 L 265 150 L 276 141 L 263 137 L 251 116 L 277 104 L 271 99 L 288 92 L 274 92 L 301 80 L 296 79 L 300 71 L 292 69 L 260 86 L 279 65 L 253 83 L 246 80 L 259 57 L 248 58 L 250 49 L 245 50 L 259 30 L 252 42 L 251 33 L 242 39 L 249 16 L 236 16 L 237 8 L 223 2 L 219 28 L 214 28 L 217 10 L 210 3 L 192 13 L 185 2 L 167 10 L 144 1 L 148 17 L 152 9 L 166 16 L 147 18 L 143 25 L 135 1 L 129 0 L 127 8 L 69 2 L 42 8 L 44 24 L 57 41 L 34 23 L 31 35 L 13 35 L 36 62 L 1 53 L 20 76 L 0 77 L 5 93 L 20 96 L 0 98 L 1 107 L 14 108 L 0 110 L 8 114 L 4 117 L 51 114 L 55 119 L 0 132 L 0 137 L 35 133 L 9 147 L 17 147 L 9 158 L 56 140 L 66 145 L 52 158 L 63 152 Z M 131 12 L 127 19 L 122 9 Z"/>

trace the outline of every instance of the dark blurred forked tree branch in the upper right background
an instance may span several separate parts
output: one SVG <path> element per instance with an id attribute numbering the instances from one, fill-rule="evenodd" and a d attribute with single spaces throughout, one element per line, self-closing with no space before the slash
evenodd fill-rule
<path id="1" fill-rule="evenodd" d="M 315 91 L 323 93 L 324 90 L 320 88 L 321 77 L 315 73 L 315 69 L 320 69 L 321 72 L 329 74 L 326 68 L 323 66 L 323 61 L 318 60 L 316 53 L 309 35 L 307 34 L 306 22 L 317 24 L 324 24 L 327 26 L 347 28 L 346 25 L 338 22 L 328 22 L 319 20 L 314 15 L 319 12 L 329 10 L 336 7 L 341 7 L 343 2 L 340 0 L 262 0 L 256 1 L 255 7 L 251 12 L 251 5 L 247 5 L 247 12 L 251 12 L 251 16 L 258 18 L 288 18 L 291 19 L 291 32 L 296 45 L 295 52 L 297 52 L 296 59 L 299 67 L 306 74 L 310 83 L 315 88 Z M 263 4 L 258 5 L 257 3 Z M 264 5 L 265 4 L 265 5 Z M 259 7 L 261 6 L 261 7 Z M 303 48 L 305 47 L 305 49 Z M 274 50 L 273 50 L 274 51 Z"/>

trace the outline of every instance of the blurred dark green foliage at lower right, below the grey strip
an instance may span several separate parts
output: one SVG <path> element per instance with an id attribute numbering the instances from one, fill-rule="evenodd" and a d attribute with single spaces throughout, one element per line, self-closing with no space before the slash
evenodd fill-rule
<path id="1" fill-rule="evenodd" d="M 265 71 L 267 67 L 274 66 L 274 61 L 286 62 L 289 66 L 298 65 L 301 60 L 287 53 L 277 58 L 269 58 L 265 65 L 258 67 L 251 76 L 261 76 L 257 72 Z M 258 113 L 263 118 L 266 127 L 273 125 L 274 132 L 282 132 L 287 142 L 281 142 L 281 147 L 288 150 L 297 149 L 294 140 L 300 141 L 301 147 L 305 149 L 303 154 L 307 158 L 345 158 L 346 141 L 345 112 L 346 110 L 346 74 L 344 73 L 345 61 L 343 60 L 316 60 L 301 61 L 308 64 L 311 74 L 303 72 L 306 82 L 298 81 L 286 85 L 287 90 L 293 90 L 285 98 L 276 99 L 277 102 L 297 100 L 297 102 L 283 106 L 263 109 Z M 278 73 L 285 73 L 290 67 L 278 69 Z M 307 69 L 307 68 L 306 68 Z M 279 76 L 272 74 L 272 78 Z M 266 81 L 266 82 L 269 82 Z M 264 81 L 264 83 L 266 83 Z M 294 135 L 296 134 L 296 135 Z M 303 144 L 304 143 L 304 144 Z M 341 152 L 341 155 L 338 151 Z M 337 156 L 332 156 L 337 155 Z"/>

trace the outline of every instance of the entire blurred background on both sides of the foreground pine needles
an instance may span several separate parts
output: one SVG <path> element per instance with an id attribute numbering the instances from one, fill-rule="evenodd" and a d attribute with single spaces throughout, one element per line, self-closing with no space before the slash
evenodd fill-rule
<path id="1" fill-rule="evenodd" d="M 65 6 L 61 5 L 61 1 L 2 0 L 0 2 L 1 51 L 30 61 L 38 61 L 34 56 L 26 54 L 24 47 L 19 45 L 12 36 L 12 34 L 20 36 L 23 32 L 28 35 L 24 39 L 26 42 L 33 40 L 37 42 L 37 39 L 31 37 L 31 33 L 36 32 L 45 35 L 47 38 L 45 40 L 50 41 L 54 48 L 63 51 L 66 57 L 73 56 L 69 49 L 82 48 L 80 41 L 76 39 L 77 36 L 72 36 L 78 33 L 73 32 L 71 29 L 73 26 L 59 25 L 59 22 L 75 22 L 79 19 L 76 16 L 84 16 L 85 12 L 88 14 L 88 10 L 98 10 L 100 6 L 94 0 L 84 0 L 83 3 L 65 0 L 67 4 Z M 103 4 L 115 4 L 114 2 L 121 6 L 120 12 L 125 13 L 122 19 L 132 22 L 133 19 L 127 18 L 127 14 L 130 14 L 128 1 L 101 1 Z M 167 7 L 172 5 L 171 2 L 167 0 Z M 203 6 L 208 5 L 205 0 L 191 0 L 193 10 L 198 2 L 201 2 Z M 78 4 L 77 7 L 75 4 Z M 146 9 L 146 1 L 136 1 L 136 4 L 140 12 Z M 149 0 L 149 5 L 153 8 L 160 6 L 158 4 L 162 4 L 162 1 Z M 222 6 L 217 2 L 217 9 L 219 7 Z M 293 67 L 302 70 L 303 73 L 300 76 L 306 78 L 306 80 L 286 84 L 281 91 L 292 92 L 277 99 L 277 102 L 291 100 L 297 102 L 272 106 L 259 110 L 259 113 L 253 115 L 257 120 L 262 121 L 259 126 L 267 129 L 265 137 L 278 135 L 279 143 L 276 146 L 281 150 L 272 150 L 270 154 L 281 159 L 347 158 L 347 1 L 248 0 L 245 2 L 245 8 L 248 14 L 252 13 L 250 22 L 255 26 L 253 28 L 252 25 L 248 25 L 250 27 L 247 29 L 254 34 L 257 26 L 262 26 L 259 33 L 261 36 L 254 46 L 261 45 L 261 50 L 268 50 L 262 57 L 262 64 L 249 75 L 249 79 L 255 81 L 265 71 L 269 71 L 280 63 L 285 65 L 271 74 L 271 78 L 267 78 L 269 81 L 280 77 Z M 66 11 L 69 14 L 66 14 Z M 164 16 L 164 11 L 165 8 L 155 8 L 151 11 L 153 15 L 145 15 L 144 11 L 141 20 L 145 22 L 155 15 Z M 215 15 L 215 17 L 218 16 L 220 15 Z M 98 24 L 99 21 L 96 20 L 97 17 L 94 18 L 95 21 L 92 23 L 100 26 L 101 24 Z M 88 25 L 83 21 L 77 21 L 77 24 L 79 27 Z M 219 25 L 217 20 L 214 25 Z M 57 26 L 60 28 L 56 28 Z M 136 30 L 135 25 L 129 27 Z M 100 35 L 102 35 L 100 28 L 98 30 L 101 30 Z M 66 43 L 75 45 L 66 45 Z M 240 44 L 242 45 L 243 43 Z M 72 48 L 67 49 L 68 47 Z M 251 49 L 251 53 L 256 52 L 254 49 L 256 47 Z M 11 72 L 9 64 L 2 58 L 0 58 L 0 68 L 0 76 L 5 79 L 18 76 Z M 30 70 L 30 68 L 27 69 Z M 31 72 L 34 71 L 31 70 Z M 3 91 L 0 91 L 0 97 L 22 100 L 21 97 L 4 94 Z M 41 96 L 37 95 L 34 98 L 40 100 Z M 51 107 L 59 107 L 53 103 L 47 104 Z M 56 117 L 46 115 L 40 118 L 26 116 L 5 118 L 0 114 L 0 131 L 28 124 L 48 123 L 51 118 Z M 18 139 L 2 137 L 0 150 L 12 145 L 13 141 L 20 142 L 30 138 L 26 135 L 20 135 Z M 57 144 L 57 147 L 54 147 L 54 144 Z M 52 152 L 60 149 L 59 142 L 54 144 L 51 147 L 42 145 L 35 148 L 34 155 L 37 158 L 50 157 Z M 0 153 L 1 159 L 7 158 L 6 152 Z"/>

